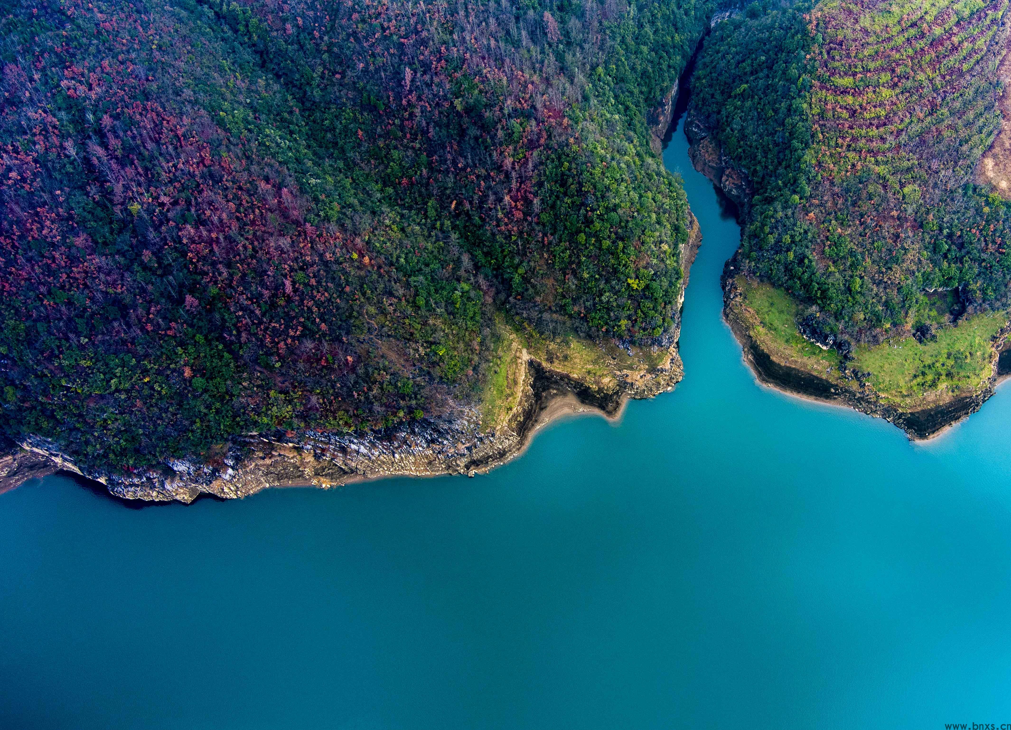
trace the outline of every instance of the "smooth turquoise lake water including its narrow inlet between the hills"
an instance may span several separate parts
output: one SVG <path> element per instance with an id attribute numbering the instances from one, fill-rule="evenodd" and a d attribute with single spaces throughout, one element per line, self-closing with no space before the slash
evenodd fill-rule
<path id="1" fill-rule="evenodd" d="M 704 235 L 685 377 L 486 476 L 0 495 L 0 728 L 1011 723 L 1011 389 L 927 444 L 756 384 Z"/>

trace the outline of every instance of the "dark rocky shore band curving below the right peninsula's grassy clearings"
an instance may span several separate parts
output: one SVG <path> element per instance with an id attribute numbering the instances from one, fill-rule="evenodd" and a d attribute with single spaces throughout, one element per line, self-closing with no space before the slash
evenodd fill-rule
<path id="1" fill-rule="evenodd" d="M 734 276 L 737 268 L 734 261 L 728 261 L 723 272 L 723 315 L 737 341 L 741 343 L 744 361 L 758 380 L 766 385 L 885 419 L 905 431 L 911 439 L 918 440 L 929 439 L 975 414 L 994 394 L 997 383 L 1011 373 L 1011 350 L 1004 349 L 995 353 L 993 375 L 980 391 L 956 395 L 918 410 L 901 410 L 882 402 L 859 372 L 843 371 L 840 379 L 830 380 L 783 362 L 764 350 L 751 336 L 748 310 Z M 998 335 L 999 340 L 1003 340 L 1006 335 L 1006 332 L 1002 332 Z"/>

